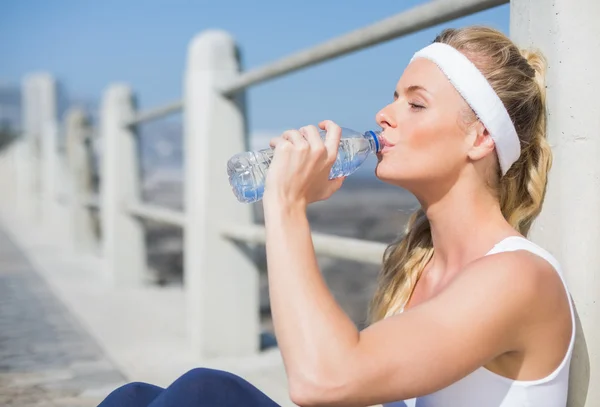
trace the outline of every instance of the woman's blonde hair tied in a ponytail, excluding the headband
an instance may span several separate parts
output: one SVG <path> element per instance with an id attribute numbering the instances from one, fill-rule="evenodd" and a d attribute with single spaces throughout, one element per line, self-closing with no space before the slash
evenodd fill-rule
<path id="1" fill-rule="evenodd" d="M 515 125 L 521 155 L 504 176 L 498 165 L 494 174 L 498 181 L 490 184 L 505 219 L 526 236 L 541 211 L 552 165 L 546 140 L 545 59 L 539 52 L 519 50 L 503 33 L 487 27 L 447 29 L 435 42 L 456 48 L 477 66 Z M 410 217 L 404 236 L 385 251 L 370 307 L 371 322 L 404 306 L 433 252 L 429 220 L 419 209 Z"/>

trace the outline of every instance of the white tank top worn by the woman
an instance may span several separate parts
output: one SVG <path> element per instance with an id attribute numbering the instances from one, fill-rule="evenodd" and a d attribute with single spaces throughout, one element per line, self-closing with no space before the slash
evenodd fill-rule
<path id="1" fill-rule="evenodd" d="M 496 244 L 487 254 L 526 250 L 550 263 L 565 286 L 573 331 L 567 353 L 550 375 L 539 380 L 512 380 L 480 367 L 459 381 L 435 393 L 415 399 L 384 404 L 384 407 L 565 407 L 569 388 L 569 365 L 575 343 L 575 313 L 558 261 L 546 250 L 519 236 Z"/>

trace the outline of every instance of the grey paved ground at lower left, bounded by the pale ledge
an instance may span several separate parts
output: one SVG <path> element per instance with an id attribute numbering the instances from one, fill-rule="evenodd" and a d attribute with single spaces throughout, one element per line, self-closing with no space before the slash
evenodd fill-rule
<path id="1" fill-rule="evenodd" d="M 96 406 L 123 382 L 0 229 L 0 406 Z"/>

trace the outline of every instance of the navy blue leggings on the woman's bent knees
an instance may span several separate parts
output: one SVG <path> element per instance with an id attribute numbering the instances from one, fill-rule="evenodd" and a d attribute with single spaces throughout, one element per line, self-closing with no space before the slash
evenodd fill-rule
<path id="1" fill-rule="evenodd" d="M 192 369 L 163 389 L 129 383 L 98 407 L 279 407 L 246 380 L 221 370 Z"/>

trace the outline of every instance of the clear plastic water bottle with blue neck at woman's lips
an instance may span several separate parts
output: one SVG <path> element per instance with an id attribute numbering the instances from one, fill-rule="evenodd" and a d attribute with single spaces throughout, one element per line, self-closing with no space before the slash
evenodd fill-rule
<path id="1" fill-rule="evenodd" d="M 326 132 L 319 132 L 325 138 Z M 381 151 L 380 132 L 359 133 L 342 127 L 342 139 L 338 155 L 331 168 L 329 179 L 352 174 L 370 154 Z M 227 162 L 227 174 L 233 193 L 240 202 L 256 202 L 262 199 L 267 169 L 273 159 L 274 150 L 266 148 L 236 154 Z"/>

